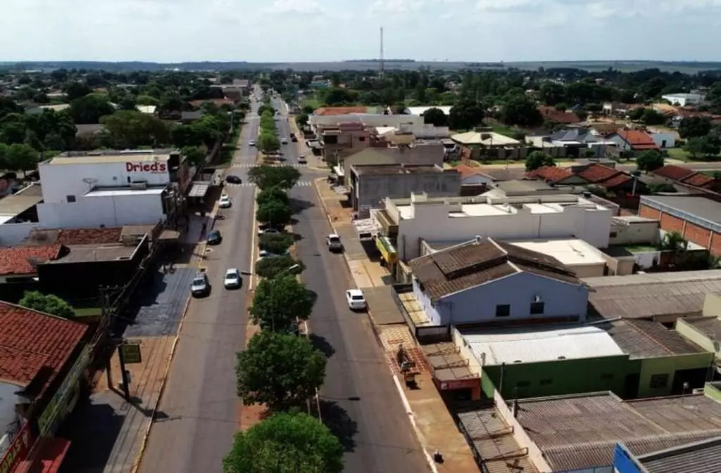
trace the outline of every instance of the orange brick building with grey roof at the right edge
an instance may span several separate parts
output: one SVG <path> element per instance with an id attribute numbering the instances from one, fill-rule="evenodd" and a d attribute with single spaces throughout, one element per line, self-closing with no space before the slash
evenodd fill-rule
<path id="1" fill-rule="evenodd" d="M 641 196 L 638 215 L 721 256 L 721 203 L 695 196 Z"/>

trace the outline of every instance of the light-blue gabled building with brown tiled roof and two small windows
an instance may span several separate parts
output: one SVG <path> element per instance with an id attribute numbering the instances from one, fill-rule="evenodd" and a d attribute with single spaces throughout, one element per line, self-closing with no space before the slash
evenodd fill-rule
<path id="1" fill-rule="evenodd" d="M 588 289 L 551 256 L 479 237 L 409 264 L 433 325 L 585 320 Z"/>

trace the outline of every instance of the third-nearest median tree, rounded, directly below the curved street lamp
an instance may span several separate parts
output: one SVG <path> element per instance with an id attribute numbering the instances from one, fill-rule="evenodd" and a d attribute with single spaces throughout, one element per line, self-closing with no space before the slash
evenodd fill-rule
<path id="1" fill-rule="evenodd" d="M 275 330 L 286 330 L 296 320 L 307 320 L 316 295 L 295 276 L 263 279 L 255 289 L 249 309 L 253 323 Z"/>

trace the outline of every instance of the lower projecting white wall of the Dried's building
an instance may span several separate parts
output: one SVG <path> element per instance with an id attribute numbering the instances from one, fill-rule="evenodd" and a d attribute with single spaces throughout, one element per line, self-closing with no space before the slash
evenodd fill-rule
<path id="1" fill-rule="evenodd" d="M 146 225 L 165 220 L 162 196 L 138 194 L 79 197 L 72 204 L 38 204 L 40 228 L 96 228 Z"/>

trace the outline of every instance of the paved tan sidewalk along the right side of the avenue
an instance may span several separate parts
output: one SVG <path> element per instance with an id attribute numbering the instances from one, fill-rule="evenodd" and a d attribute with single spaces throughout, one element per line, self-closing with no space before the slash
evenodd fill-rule
<path id="1" fill-rule="evenodd" d="M 362 247 L 362 252 L 358 251 L 356 245 L 360 246 L 360 242 L 358 242 L 357 236 L 355 237 L 356 241 L 353 241 L 353 237 L 348 236 L 355 235 L 355 229 L 353 229 L 353 224 L 350 222 L 350 210 L 345 209 L 341 204 L 341 200 L 345 199 L 345 197 L 333 191 L 325 179 L 317 179 L 315 184 L 328 221 L 334 228 L 335 233 L 340 235 L 346 247 L 344 251 L 345 261 L 348 263 L 355 285 L 361 289 L 386 285 L 384 279 L 389 276 L 388 270 L 378 263 L 370 261 L 365 251 L 362 251 Z M 348 238 L 351 239 L 350 242 Z M 373 289 L 374 296 L 380 290 Z M 396 382 L 399 395 L 433 471 L 478 473 L 479 467 L 471 449 L 466 443 L 463 434 L 456 427 L 451 413 L 448 412 L 445 402 L 443 402 L 438 389 L 433 384 L 433 377 L 425 362 L 425 355 L 420 347 L 416 345 L 407 325 L 405 323 L 396 323 L 393 320 L 389 320 L 387 323 L 384 323 L 383 320 L 375 320 L 370 299 L 368 303 L 373 330 L 386 352 L 386 360 L 393 374 L 394 382 Z M 393 302 L 386 305 L 388 304 L 393 305 L 397 310 Z M 407 349 L 407 352 L 415 361 L 418 389 L 407 389 L 399 381 L 402 377 L 400 377 L 399 368 L 395 363 L 395 356 L 400 344 Z M 432 461 L 431 458 L 435 450 L 443 454 L 443 464 Z"/>

